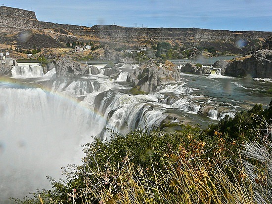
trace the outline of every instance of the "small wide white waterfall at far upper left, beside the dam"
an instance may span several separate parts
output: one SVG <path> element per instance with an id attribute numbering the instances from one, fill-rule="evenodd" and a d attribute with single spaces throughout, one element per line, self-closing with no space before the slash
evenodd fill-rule
<path id="1" fill-rule="evenodd" d="M 37 78 L 44 76 L 44 69 L 41 66 L 14 66 L 11 74 L 13 78 Z"/>

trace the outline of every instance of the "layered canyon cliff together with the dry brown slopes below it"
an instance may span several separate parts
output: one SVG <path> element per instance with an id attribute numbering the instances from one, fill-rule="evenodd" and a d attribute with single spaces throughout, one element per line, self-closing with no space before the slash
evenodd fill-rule
<path id="1" fill-rule="evenodd" d="M 262 47 L 272 32 L 228 31 L 198 28 L 92 27 L 42 22 L 33 11 L 0 6 L 0 46 L 33 49 L 67 47 L 67 43 L 93 41 L 111 46 L 156 45 L 158 41 L 188 47 L 213 47 L 221 53 L 244 54 Z M 243 41 L 240 46 L 238 41 Z M 4 47 L 5 46 L 5 47 Z"/>

